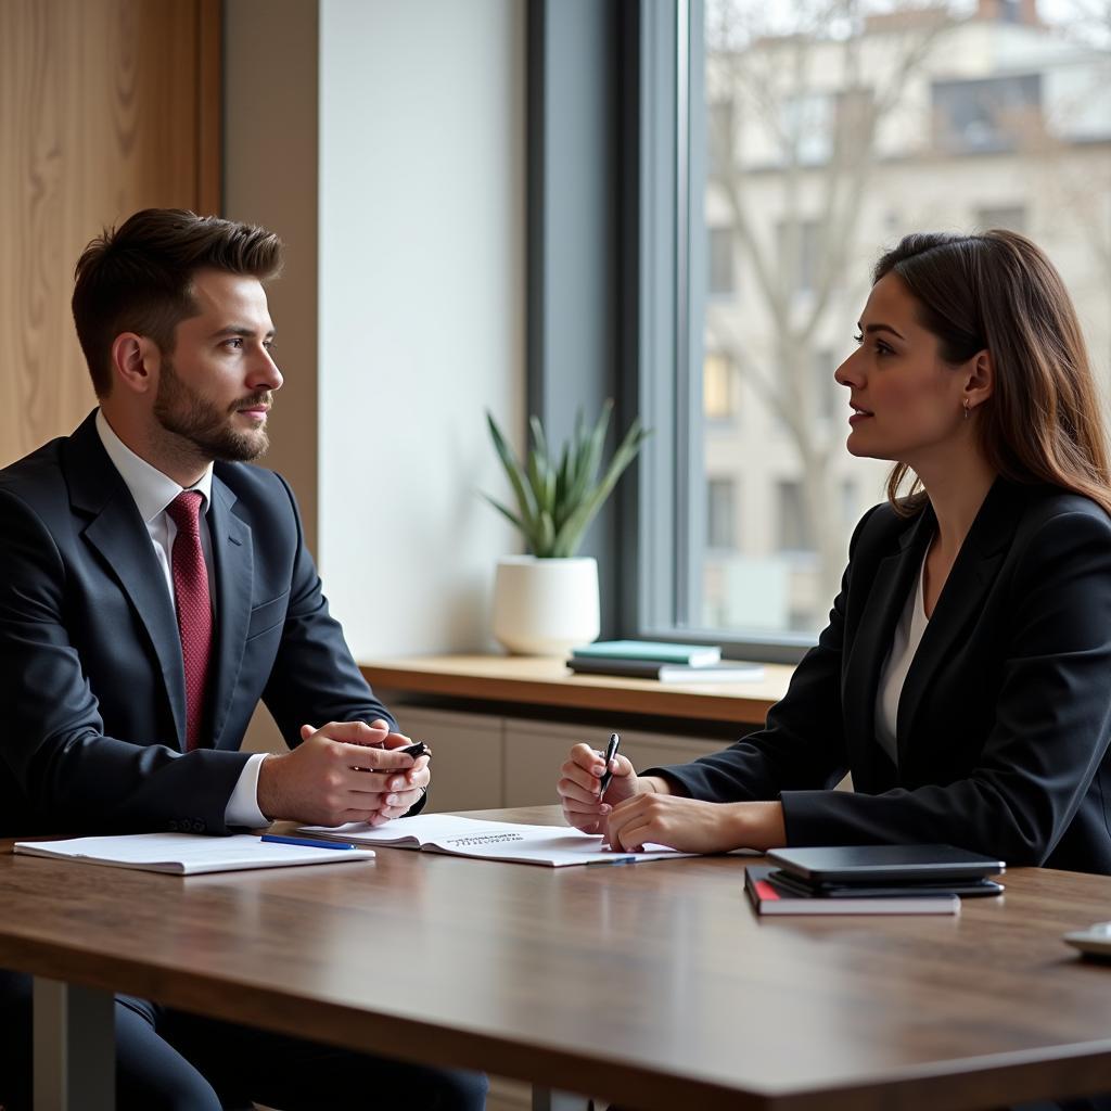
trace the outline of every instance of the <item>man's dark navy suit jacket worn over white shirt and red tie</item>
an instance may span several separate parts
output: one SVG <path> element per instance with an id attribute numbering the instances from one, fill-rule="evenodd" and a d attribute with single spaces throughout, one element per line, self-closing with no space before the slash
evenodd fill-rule
<path id="1" fill-rule="evenodd" d="M 211 747 L 184 752 L 173 603 L 93 416 L 0 471 L 0 835 L 223 833 L 260 699 L 291 747 L 304 722 L 393 719 L 328 613 L 289 487 L 217 463 Z"/>

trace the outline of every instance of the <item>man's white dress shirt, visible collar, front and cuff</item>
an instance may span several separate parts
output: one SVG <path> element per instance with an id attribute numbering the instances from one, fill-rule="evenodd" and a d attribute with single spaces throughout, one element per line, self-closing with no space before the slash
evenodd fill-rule
<path id="1" fill-rule="evenodd" d="M 147 526 L 150 533 L 150 542 L 154 548 L 154 556 L 159 567 L 166 578 L 166 589 L 170 592 L 173 601 L 173 569 L 171 553 L 173 551 L 173 538 L 178 534 L 178 527 L 166 511 L 166 507 L 182 492 L 184 487 L 178 486 L 169 476 L 163 474 L 157 467 L 151 467 L 144 459 L 140 459 L 123 441 L 112 431 L 104 414 L 97 410 L 97 432 L 100 434 L 100 442 L 108 452 L 116 469 L 120 472 L 120 478 L 127 483 L 127 488 L 134 498 L 139 509 L 139 516 Z M 209 534 L 208 508 L 212 493 L 212 464 L 204 469 L 204 473 L 198 479 L 190 490 L 196 490 L 201 496 L 200 532 L 201 548 L 204 551 L 204 563 L 208 568 L 209 598 L 216 605 L 216 582 L 212 577 L 212 538 Z M 256 753 L 243 765 L 236 783 L 234 791 L 228 800 L 228 808 L 224 811 L 224 821 L 229 825 L 243 825 L 249 829 L 257 829 L 260 825 L 269 825 L 269 820 L 259 810 L 259 768 L 266 760 L 266 753 Z"/>

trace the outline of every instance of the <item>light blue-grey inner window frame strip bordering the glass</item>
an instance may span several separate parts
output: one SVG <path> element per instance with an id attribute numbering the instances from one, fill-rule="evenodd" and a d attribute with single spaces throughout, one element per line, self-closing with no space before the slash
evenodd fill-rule
<path id="1" fill-rule="evenodd" d="M 622 498 L 615 563 L 624 583 L 622 635 L 720 643 L 737 659 L 797 663 L 812 634 L 730 635 L 682 615 L 701 612 L 705 544 L 705 464 L 701 420 L 703 358 L 700 307 L 708 296 L 702 191 L 709 151 L 705 121 L 692 111 L 701 97 L 703 0 L 641 0 L 633 79 L 625 88 L 637 136 L 633 180 L 623 201 L 635 219 L 620 239 L 627 396 L 653 430 L 638 481 Z M 695 372 L 698 371 L 698 372 Z M 769 524 L 771 527 L 771 524 Z"/>

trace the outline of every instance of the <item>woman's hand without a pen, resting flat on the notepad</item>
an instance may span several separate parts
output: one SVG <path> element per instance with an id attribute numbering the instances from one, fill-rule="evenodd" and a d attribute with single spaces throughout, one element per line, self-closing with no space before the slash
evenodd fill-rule
<path id="1" fill-rule="evenodd" d="M 638 794 L 613 808 L 602 830 L 614 849 L 663 844 L 679 852 L 777 849 L 787 843 L 779 802 L 702 802 Z"/>

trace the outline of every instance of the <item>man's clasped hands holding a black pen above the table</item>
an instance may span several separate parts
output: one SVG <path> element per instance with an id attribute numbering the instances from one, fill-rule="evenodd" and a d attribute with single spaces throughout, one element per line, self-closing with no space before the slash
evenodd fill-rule
<path id="1" fill-rule="evenodd" d="M 259 810 L 271 821 L 312 825 L 399 818 L 428 788 L 428 757 L 403 752 L 409 738 L 391 733 L 382 720 L 331 721 L 301 727 L 292 752 L 269 755 L 259 769 Z"/>

